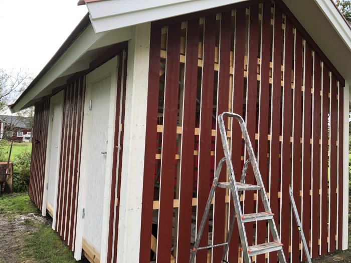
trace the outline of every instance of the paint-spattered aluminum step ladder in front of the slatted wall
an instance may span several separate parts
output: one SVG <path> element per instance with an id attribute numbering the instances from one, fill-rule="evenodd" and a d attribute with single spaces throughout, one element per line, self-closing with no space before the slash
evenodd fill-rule
<path id="1" fill-rule="evenodd" d="M 228 145 L 227 131 L 226 131 L 226 128 L 224 126 L 223 117 L 233 118 L 233 121 L 234 121 L 234 119 L 236 119 L 239 122 L 241 132 L 242 132 L 242 135 L 244 137 L 246 150 L 249 154 L 249 159 L 246 160 L 244 167 L 243 167 L 243 171 L 241 173 L 240 182 L 235 181 L 233 164 L 231 161 L 231 155 L 230 155 L 229 145 Z M 260 174 L 260 171 L 258 170 L 257 160 L 256 160 L 255 153 L 253 151 L 253 148 L 252 148 L 252 145 L 251 145 L 251 142 L 249 139 L 249 135 L 248 135 L 248 132 L 246 129 L 245 122 L 244 122 L 243 118 L 238 114 L 224 112 L 218 116 L 218 125 L 219 125 L 219 129 L 220 129 L 220 134 L 221 134 L 225 157 L 220 160 L 220 162 L 217 166 L 217 169 L 216 169 L 216 173 L 215 173 L 215 177 L 214 177 L 213 184 L 211 187 L 210 195 L 209 195 L 209 198 L 207 200 L 204 216 L 201 220 L 200 228 L 199 228 L 199 231 L 197 233 L 195 244 L 194 244 L 194 247 L 192 250 L 190 263 L 194 263 L 195 256 L 196 256 L 196 253 L 198 250 L 209 249 L 209 248 L 217 247 L 217 246 L 224 246 L 222 262 L 228 263 L 226 258 L 227 258 L 227 252 L 228 252 L 230 239 L 231 239 L 233 228 L 234 228 L 235 218 L 237 218 L 237 221 L 238 221 L 239 235 L 240 235 L 241 246 L 242 246 L 241 249 L 243 252 L 243 257 L 244 257 L 245 263 L 251 263 L 251 256 L 258 255 L 258 254 L 265 254 L 265 253 L 272 252 L 272 251 L 277 251 L 278 258 L 279 258 L 279 261 L 281 263 L 286 263 L 285 256 L 283 253 L 283 244 L 280 242 L 277 228 L 275 226 L 275 222 L 273 219 L 274 214 L 272 214 L 271 208 L 270 208 L 269 203 L 268 203 L 266 190 L 264 189 L 261 174 Z M 218 178 L 219 178 L 219 175 L 221 173 L 222 165 L 224 162 L 226 162 L 227 173 L 229 175 L 229 182 L 218 182 Z M 249 163 L 251 163 L 251 165 L 252 165 L 257 185 L 251 185 L 251 184 L 245 183 L 245 176 L 246 176 L 246 171 L 247 171 Z M 233 203 L 234 203 L 234 211 L 233 211 L 233 214 L 231 217 L 232 220 L 231 220 L 230 225 L 229 225 L 227 240 L 225 243 L 212 244 L 209 246 L 199 247 L 199 243 L 200 243 L 203 231 L 204 231 L 205 223 L 206 223 L 206 220 L 207 220 L 208 215 L 209 215 L 212 198 L 215 194 L 215 190 L 217 187 L 230 189 L 231 194 L 232 194 L 232 198 L 233 198 Z M 261 195 L 262 202 L 263 202 L 264 210 L 265 210 L 264 212 L 251 213 L 251 214 L 243 214 L 242 213 L 242 209 L 240 206 L 240 196 L 241 196 L 243 191 L 250 191 L 250 190 L 251 191 L 256 191 L 256 190 L 259 191 L 259 193 Z M 247 241 L 244 223 L 251 222 L 251 221 L 259 221 L 259 220 L 268 220 L 268 226 L 269 226 L 271 235 L 273 237 L 273 241 L 268 242 L 268 243 L 249 246 L 248 241 Z"/>

